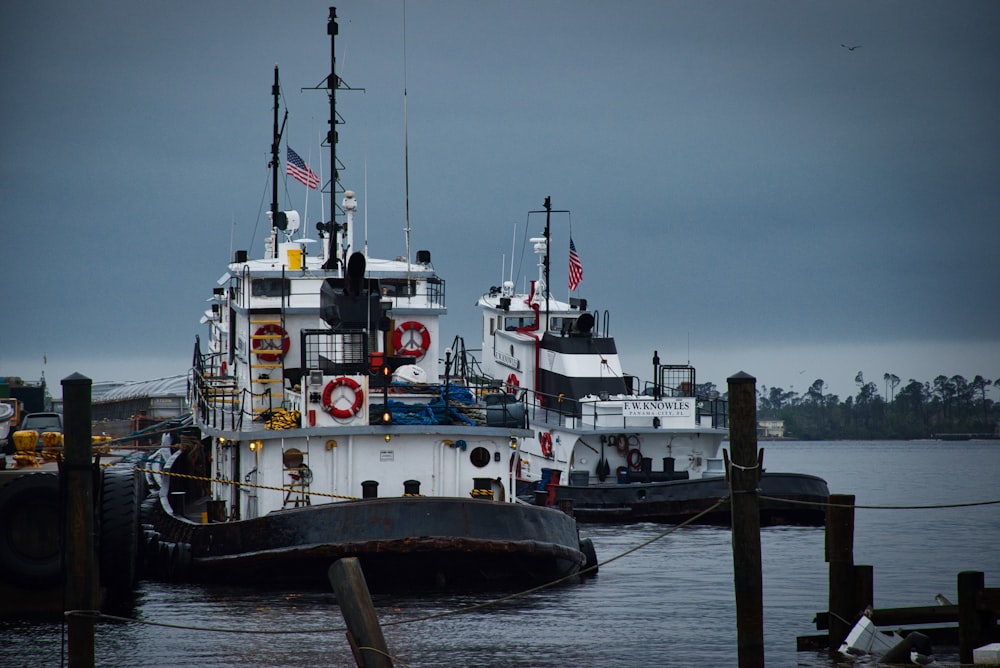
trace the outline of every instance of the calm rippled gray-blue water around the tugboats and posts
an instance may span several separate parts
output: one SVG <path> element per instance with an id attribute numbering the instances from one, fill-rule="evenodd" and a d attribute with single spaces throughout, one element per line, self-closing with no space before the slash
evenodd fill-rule
<path id="1" fill-rule="evenodd" d="M 1000 442 L 762 443 L 773 471 L 824 477 L 858 505 L 933 505 L 1000 498 Z M 668 527 L 581 525 L 603 562 Z M 823 530 L 765 528 L 765 658 L 769 666 L 831 667 L 796 652 L 826 609 Z M 1000 586 L 1000 506 L 856 512 L 855 562 L 875 570 L 876 607 L 957 601 L 959 571 Z M 473 612 L 411 621 L 481 603 L 480 597 L 379 597 L 375 604 L 397 666 L 736 666 L 730 535 L 686 528 L 602 566 L 580 585 Z M 143 624 L 101 624 L 99 666 L 353 666 L 343 618 L 324 592 L 261 593 L 143 582 L 134 616 L 193 627 L 296 635 L 228 634 Z M 407 623 L 408 622 L 408 623 Z M 58 666 L 58 623 L 0 622 L 0 666 Z M 954 649 L 936 648 L 957 665 Z"/>

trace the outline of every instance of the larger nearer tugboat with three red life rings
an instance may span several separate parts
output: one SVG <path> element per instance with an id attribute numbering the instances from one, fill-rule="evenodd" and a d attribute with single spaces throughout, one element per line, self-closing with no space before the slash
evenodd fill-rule
<path id="1" fill-rule="evenodd" d="M 331 41 L 336 19 L 331 8 Z M 261 257 L 237 250 L 214 289 L 189 376 L 193 426 L 146 465 L 144 572 L 329 586 L 330 564 L 351 556 L 373 591 L 391 592 L 522 589 L 595 565 L 574 518 L 517 498 L 525 404 L 466 378 L 459 339 L 442 345 L 430 252 L 411 260 L 408 239 L 393 260 L 353 252 L 358 200 L 339 184 L 338 133 L 318 242 L 279 211 L 277 68 L 272 93 L 270 236 Z"/>

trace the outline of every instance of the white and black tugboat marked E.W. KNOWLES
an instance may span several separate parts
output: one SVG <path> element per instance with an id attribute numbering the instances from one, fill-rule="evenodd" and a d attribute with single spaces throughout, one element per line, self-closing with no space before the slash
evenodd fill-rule
<path id="1" fill-rule="evenodd" d="M 655 352 L 652 380 L 623 371 L 608 311 L 551 295 L 550 198 L 532 213 L 545 214 L 543 235 L 530 239 L 537 279 L 527 293 L 504 281 L 477 304 L 483 373 L 502 379 L 508 400 L 527 403 L 531 436 L 511 462 L 519 494 L 571 507 L 581 522 L 680 522 L 711 508 L 728 495 L 726 400 L 698 384 L 693 366 L 661 363 Z M 571 273 L 574 252 L 571 240 Z M 763 472 L 759 489 L 762 524 L 823 524 L 822 478 Z M 730 509 L 700 521 L 726 524 Z"/>

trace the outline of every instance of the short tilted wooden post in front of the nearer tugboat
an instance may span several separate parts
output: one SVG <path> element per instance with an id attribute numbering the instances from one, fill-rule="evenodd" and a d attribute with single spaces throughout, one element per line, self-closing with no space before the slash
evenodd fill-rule
<path id="1" fill-rule="evenodd" d="M 357 558 L 344 557 L 333 562 L 327 577 L 347 622 L 347 641 L 358 668 L 392 668 L 392 658 Z"/>

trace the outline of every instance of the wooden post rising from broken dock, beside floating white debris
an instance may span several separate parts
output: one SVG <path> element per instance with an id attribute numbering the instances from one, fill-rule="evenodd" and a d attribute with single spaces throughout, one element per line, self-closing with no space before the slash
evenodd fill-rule
<path id="1" fill-rule="evenodd" d="M 851 632 L 857 609 L 854 568 L 854 495 L 831 494 L 826 508 L 826 561 L 830 564 L 830 651 Z M 866 603 L 874 603 L 867 601 Z"/>

